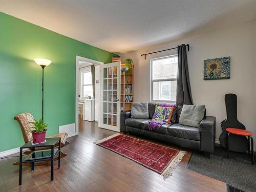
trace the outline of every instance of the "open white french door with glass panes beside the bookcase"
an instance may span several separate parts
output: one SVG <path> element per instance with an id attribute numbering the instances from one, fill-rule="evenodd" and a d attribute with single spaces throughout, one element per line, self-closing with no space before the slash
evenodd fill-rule
<path id="1" fill-rule="evenodd" d="M 120 62 L 100 66 L 99 126 L 120 132 Z"/>

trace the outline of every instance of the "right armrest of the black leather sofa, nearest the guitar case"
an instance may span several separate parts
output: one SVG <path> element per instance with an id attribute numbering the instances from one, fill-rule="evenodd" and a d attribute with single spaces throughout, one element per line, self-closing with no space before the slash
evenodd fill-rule
<path id="1" fill-rule="evenodd" d="M 200 122 L 200 133 L 201 133 L 201 151 L 214 154 L 216 117 L 205 116 L 204 119 Z"/>

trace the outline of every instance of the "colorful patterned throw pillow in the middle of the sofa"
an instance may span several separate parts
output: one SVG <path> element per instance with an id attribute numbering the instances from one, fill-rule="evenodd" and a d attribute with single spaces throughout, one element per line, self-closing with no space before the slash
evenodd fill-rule
<path id="1" fill-rule="evenodd" d="M 170 123 L 172 118 L 174 107 L 173 106 L 159 106 L 156 104 L 155 113 L 153 115 L 153 121 L 161 121 L 165 123 Z"/>

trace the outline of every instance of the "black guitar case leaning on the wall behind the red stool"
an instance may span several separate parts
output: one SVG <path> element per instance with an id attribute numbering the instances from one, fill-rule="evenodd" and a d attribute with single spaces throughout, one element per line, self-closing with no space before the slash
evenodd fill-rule
<path id="1" fill-rule="evenodd" d="M 226 128 L 237 128 L 245 130 L 245 126 L 238 121 L 237 117 L 237 95 L 225 95 L 227 119 L 221 122 L 222 134 L 220 135 L 220 143 L 226 147 Z M 239 135 L 229 135 L 229 150 L 233 152 L 246 152 L 247 151 L 247 138 Z"/>

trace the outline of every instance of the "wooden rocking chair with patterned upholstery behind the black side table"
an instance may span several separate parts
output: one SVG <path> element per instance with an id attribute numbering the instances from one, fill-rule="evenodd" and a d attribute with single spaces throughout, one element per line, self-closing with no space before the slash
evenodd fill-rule
<path id="1" fill-rule="evenodd" d="M 30 130 L 31 130 L 32 126 L 29 122 L 34 122 L 35 121 L 34 117 L 30 113 L 22 113 L 22 114 L 16 115 L 14 117 L 14 119 L 18 121 L 19 126 L 22 129 L 22 134 L 23 134 L 23 138 L 24 138 L 25 143 L 31 141 L 32 140 L 32 133 L 30 133 Z M 66 141 L 67 136 L 68 136 L 67 133 L 60 133 L 60 134 L 57 134 L 57 135 L 50 136 L 48 138 L 60 137 L 60 143 L 61 143 L 60 147 L 64 147 L 67 144 L 69 144 L 69 142 Z M 55 147 L 58 147 L 58 143 L 56 143 Z M 45 148 L 39 147 L 39 148 L 35 148 L 35 151 L 37 151 L 37 150 L 48 150 L 48 149 L 50 149 L 50 148 L 49 147 L 45 147 Z M 30 153 L 31 153 L 31 151 L 27 150 L 23 154 L 30 154 Z M 67 156 L 67 154 L 60 151 L 60 158 L 65 157 L 65 156 Z M 57 160 L 57 159 L 58 159 L 58 157 L 55 158 L 55 160 Z M 35 165 L 44 165 L 44 164 L 47 164 L 47 163 L 50 163 L 50 162 L 51 161 L 36 162 Z M 15 162 L 15 163 L 13 163 L 13 165 L 19 165 L 19 162 Z M 31 163 L 23 163 L 23 165 L 30 166 Z"/>

